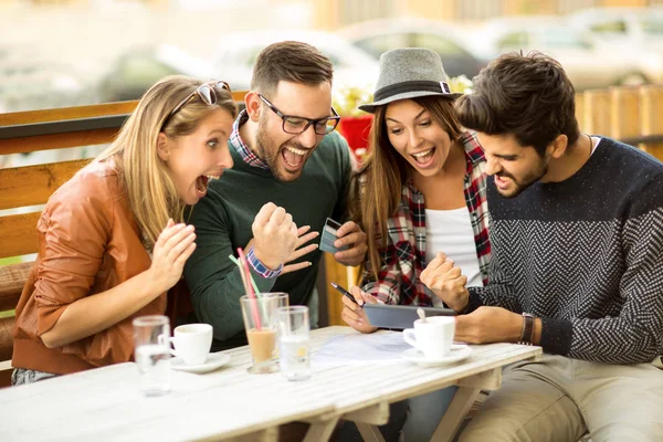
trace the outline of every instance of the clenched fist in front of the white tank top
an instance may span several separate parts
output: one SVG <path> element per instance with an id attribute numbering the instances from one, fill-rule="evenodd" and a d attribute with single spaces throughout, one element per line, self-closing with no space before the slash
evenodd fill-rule
<path id="1" fill-rule="evenodd" d="M 419 278 L 454 311 L 462 312 L 467 306 L 470 301 L 470 292 L 465 288 L 467 277 L 444 253 L 438 253 L 421 272 Z"/>

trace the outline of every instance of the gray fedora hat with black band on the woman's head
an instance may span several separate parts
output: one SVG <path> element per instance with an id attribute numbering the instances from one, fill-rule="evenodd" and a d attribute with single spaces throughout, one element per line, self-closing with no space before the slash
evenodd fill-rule
<path id="1" fill-rule="evenodd" d="M 403 48 L 380 55 L 380 76 L 373 103 L 359 106 L 373 113 L 377 106 L 420 96 L 440 95 L 455 99 L 463 94 L 452 93 L 440 55 L 424 48 Z"/>

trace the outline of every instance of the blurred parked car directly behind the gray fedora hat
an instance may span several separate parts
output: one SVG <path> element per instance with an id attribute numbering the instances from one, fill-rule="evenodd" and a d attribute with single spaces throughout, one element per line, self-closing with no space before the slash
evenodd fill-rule
<path id="1" fill-rule="evenodd" d="M 376 60 L 392 49 L 428 48 L 440 54 L 449 76 L 464 74 L 472 78 L 488 59 L 474 53 L 466 34 L 453 23 L 414 18 L 371 20 L 338 31 L 338 35 Z"/>

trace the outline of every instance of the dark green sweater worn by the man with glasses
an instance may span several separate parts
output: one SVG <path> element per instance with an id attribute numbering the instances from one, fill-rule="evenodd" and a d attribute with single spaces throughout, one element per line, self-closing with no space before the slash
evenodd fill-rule
<path id="1" fill-rule="evenodd" d="M 215 348 L 245 345 L 240 296 L 244 287 L 240 272 L 228 255 L 236 256 L 253 238 L 251 224 L 266 202 L 283 207 L 297 227 L 322 232 L 327 217 L 339 220 L 346 209 L 350 173 L 349 149 L 337 133 L 327 135 L 308 158 L 302 176 L 277 181 L 270 170 L 249 166 L 229 141 L 234 166 L 209 185 L 208 193 L 193 207 L 196 252 L 187 261 L 185 278 L 191 292 L 197 319 L 214 327 Z M 318 236 L 319 240 L 319 236 Z M 318 241 L 316 240 L 316 241 Z M 292 305 L 305 304 L 315 287 L 322 252 L 298 261 L 312 266 L 266 280 L 253 273 L 261 292 L 286 292 Z"/>

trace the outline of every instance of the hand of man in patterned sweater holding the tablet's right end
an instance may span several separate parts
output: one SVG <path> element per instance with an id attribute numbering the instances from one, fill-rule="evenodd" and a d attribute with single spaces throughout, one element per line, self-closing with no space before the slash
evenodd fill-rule
<path id="1" fill-rule="evenodd" d="M 523 315 L 502 307 L 482 306 L 469 315 L 456 316 L 454 340 L 470 344 L 517 343 L 523 332 Z"/>

